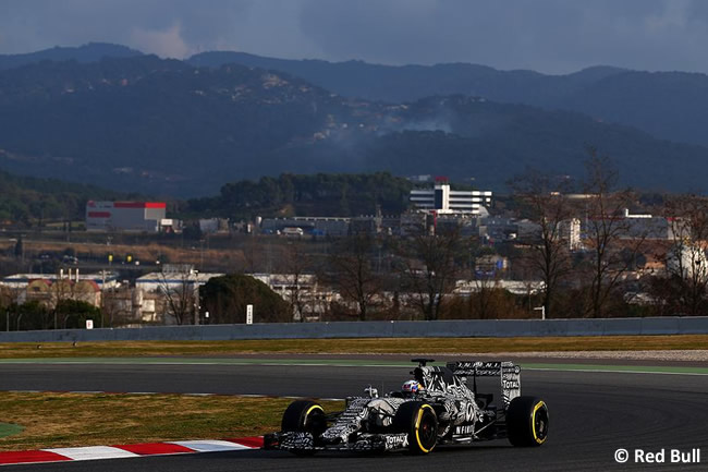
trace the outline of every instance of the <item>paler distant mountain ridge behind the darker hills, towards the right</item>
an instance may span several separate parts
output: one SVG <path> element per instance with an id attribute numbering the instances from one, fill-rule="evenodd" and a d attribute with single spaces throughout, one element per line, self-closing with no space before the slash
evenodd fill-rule
<path id="1" fill-rule="evenodd" d="M 228 51 L 203 52 L 187 62 L 283 71 L 340 95 L 369 100 L 401 102 L 462 94 L 547 110 L 577 111 L 605 122 L 635 126 L 660 138 L 708 145 L 704 131 L 708 124 L 706 74 L 595 66 L 567 75 L 546 75 L 466 63 L 394 66 L 272 59 Z"/>

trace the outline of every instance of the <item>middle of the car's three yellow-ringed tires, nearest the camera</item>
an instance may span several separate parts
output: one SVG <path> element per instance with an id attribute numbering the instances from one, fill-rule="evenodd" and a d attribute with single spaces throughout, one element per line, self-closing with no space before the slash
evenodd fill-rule
<path id="1" fill-rule="evenodd" d="M 395 431 L 408 434 L 408 450 L 412 453 L 428 453 L 438 444 L 438 415 L 428 403 L 403 403 L 393 417 L 393 426 Z"/>

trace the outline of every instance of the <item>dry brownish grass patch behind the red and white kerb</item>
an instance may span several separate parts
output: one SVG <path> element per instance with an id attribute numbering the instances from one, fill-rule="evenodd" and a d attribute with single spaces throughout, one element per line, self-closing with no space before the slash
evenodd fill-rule
<path id="1" fill-rule="evenodd" d="M 183 395 L 0 392 L 0 421 L 24 431 L 0 451 L 258 436 L 279 428 L 292 400 Z M 322 401 L 326 411 L 343 402 Z"/>

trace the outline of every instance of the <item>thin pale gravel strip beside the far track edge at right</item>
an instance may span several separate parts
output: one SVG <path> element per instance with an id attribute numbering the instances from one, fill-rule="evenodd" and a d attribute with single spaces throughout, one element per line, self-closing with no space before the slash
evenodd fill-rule
<path id="1" fill-rule="evenodd" d="M 459 354 L 466 355 L 466 354 Z M 471 353 L 474 356 L 489 356 L 487 353 Z M 535 358 L 535 359 L 608 359 L 627 361 L 674 361 L 674 362 L 708 362 L 708 349 L 671 350 L 671 351 L 529 351 L 529 352 L 497 352 L 496 358 Z"/>

